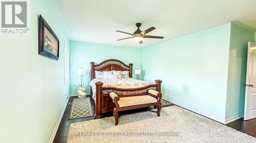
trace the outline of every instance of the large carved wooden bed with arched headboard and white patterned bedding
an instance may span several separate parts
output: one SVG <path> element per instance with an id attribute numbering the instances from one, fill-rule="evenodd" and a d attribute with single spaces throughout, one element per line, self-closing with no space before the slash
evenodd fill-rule
<path id="1" fill-rule="evenodd" d="M 101 79 L 95 78 L 95 71 L 128 71 L 129 78 Z M 125 65 L 115 59 L 105 60 L 99 64 L 91 62 L 91 93 L 95 101 L 95 119 L 103 117 L 104 113 L 110 112 L 109 94 L 114 92 L 119 97 L 146 95 L 148 90 L 161 92 L 161 80 L 155 83 L 132 78 L 133 64 Z"/>

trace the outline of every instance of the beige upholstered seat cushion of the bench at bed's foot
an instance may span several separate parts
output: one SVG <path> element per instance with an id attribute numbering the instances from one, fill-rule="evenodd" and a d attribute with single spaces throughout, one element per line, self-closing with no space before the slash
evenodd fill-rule
<path id="1" fill-rule="evenodd" d="M 119 107 L 133 106 L 147 103 L 156 103 L 157 99 L 150 95 L 122 97 L 117 103 Z"/>

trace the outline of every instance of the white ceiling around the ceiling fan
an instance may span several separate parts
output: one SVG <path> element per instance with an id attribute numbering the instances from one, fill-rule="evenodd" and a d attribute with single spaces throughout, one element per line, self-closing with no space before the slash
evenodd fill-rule
<path id="1" fill-rule="evenodd" d="M 256 28 L 256 0 L 57 0 L 71 40 L 132 47 L 145 47 L 195 33 L 230 21 Z M 147 35 L 142 44 L 116 30 L 133 33 L 135 23 Z"/>

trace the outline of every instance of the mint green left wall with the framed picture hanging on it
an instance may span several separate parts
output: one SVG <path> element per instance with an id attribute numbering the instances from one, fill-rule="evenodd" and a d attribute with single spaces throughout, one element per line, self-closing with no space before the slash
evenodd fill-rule
<path id="1" fill-rule="evenodd" d="M 0 36 L 0 142 L 49 142 L 69 93 L 64 84 L 66 27 L 55 1 L 29 1 L 30 35 Z M 60 41 L 59 61 L 38 55 L 38 14 Z"/>

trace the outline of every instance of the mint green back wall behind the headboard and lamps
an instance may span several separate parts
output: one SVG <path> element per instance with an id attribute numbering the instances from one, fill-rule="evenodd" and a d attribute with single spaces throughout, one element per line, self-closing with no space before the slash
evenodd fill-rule
<path id="1" fill-rule="evenodd" d="M 90 62 L 99 64 L 104 60 L 117 59 L 126 65 L 133 63 L 134 69 L 140 69 L 140 56 L 140 48 L 70 41 L 70 94 L 76 94 L 77 91 L 77 88 L 74 87 L 74 84 L 79 83 L 79 76 L 76 74 L 77 68 L 87 69 L 84 82 L 89 85 L 91 80 Z M 87 92 L 90 92 L 90 88 L 87 88 Z"/>

